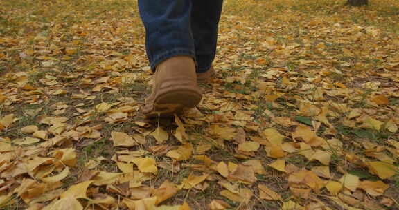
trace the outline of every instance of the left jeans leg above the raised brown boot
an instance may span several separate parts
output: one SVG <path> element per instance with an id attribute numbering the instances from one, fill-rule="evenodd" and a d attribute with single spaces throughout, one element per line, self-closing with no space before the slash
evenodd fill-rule
<path id="1" fill-rule="evenodd" d="M 145 47 L 152 70 L 170 57 L 195 58 L 190 30 L 192 1 L 139 0 L 139 12 L 145 26 Z"/>

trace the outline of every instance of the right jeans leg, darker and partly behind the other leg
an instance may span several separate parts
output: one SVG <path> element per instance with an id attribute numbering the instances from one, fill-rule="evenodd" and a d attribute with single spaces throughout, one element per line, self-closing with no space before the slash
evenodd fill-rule
<path id="1" fill-rule="evenodd" d="M 218 24 L 223 0 L 193 0 L 191 29 L 195 41 L 197 73 L 205 73 L 215 59 Z"/>

